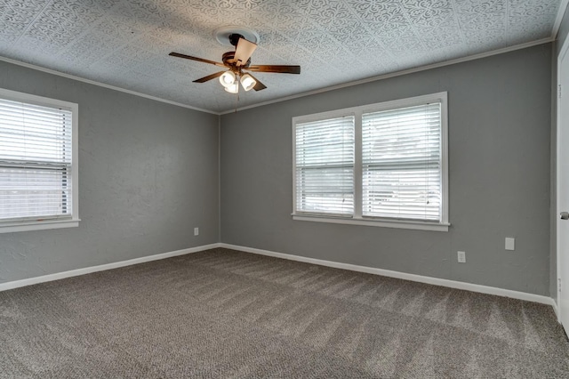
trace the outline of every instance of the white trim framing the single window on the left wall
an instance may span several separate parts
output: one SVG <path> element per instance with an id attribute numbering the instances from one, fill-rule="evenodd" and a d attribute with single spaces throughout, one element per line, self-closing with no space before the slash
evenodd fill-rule
<path id="1" fill-rule="evenodd" d="M 69 216 L 53 216 L 44 218 L 42 220 L 30 220 L 29 218 L 21 218 L 19 220 L 8 220 L 0 222 L 0 233 L 11 233 L 15 231 L 28 231 L 28 230 L 48 230 L 60 228 L 73 228 L 79 226 L 79 136 L 78 136 L 78 118 L 79 106 L 74 102 L 60 101 L 50 99 L 43 96 L 37 96 L 29 93 L 19 93 L 16 91 L 6 90 L 0 88 L 0 97 L 12 101 L 21 101 L 30 104 L 36 104 L 44 107 L 68 109 L 73 113 L 71 120 L 71 183 L 72 183 L 72 197 L 71 209 L 72 214 Z"/>

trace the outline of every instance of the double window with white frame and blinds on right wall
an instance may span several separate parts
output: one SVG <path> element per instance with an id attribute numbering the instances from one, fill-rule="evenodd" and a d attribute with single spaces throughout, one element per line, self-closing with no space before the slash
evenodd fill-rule
<path id="1" fill-rule="evenodd" d="M 446 93 L 293 118 L 293 219 L 448 230 Z"/>

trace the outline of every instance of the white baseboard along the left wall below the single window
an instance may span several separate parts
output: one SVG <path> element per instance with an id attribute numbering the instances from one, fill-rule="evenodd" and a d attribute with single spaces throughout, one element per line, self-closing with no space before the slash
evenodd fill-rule
<path id="1" fill-rule="evenodd" d="M 132 266 L 133 264 L 139 264 L 144 262 L 157 261 L 159 259 L 171 258 L 172 256 L 184 255 L 197 253 L 204 250 L 209 250 L 213 248 L 220 247 L 220 244 L 211 244 L 204 246 L 190 247 L 188 249 L 176 250 L 169 253 L 155 254 L 142 256 L 140 258 L 129 259 L 128 261 L 112 262 L 107 264 L 100 264 L 99 266 L 85 267 L 83 269 L 69 270 L 63 272 L 57 272 L 55 274 L 44 275 L 35 278 L 26 278 L 21 280 L 14 280 L 11 282 L 0 283 L 0 291 L 6 291 L 13 288 L 19 288 L 20 286 L 31 286 L 38 283 L 51 282 L 52 280 L 59 280 L 63 278 L 77 277 L 79 275 L 90 274 L 92 272 L 118 269 L 119 267 Z"/>

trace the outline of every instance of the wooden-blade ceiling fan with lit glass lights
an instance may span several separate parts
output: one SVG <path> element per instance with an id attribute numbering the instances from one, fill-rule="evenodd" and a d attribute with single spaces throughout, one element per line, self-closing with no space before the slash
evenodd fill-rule
<path id="1" fill-rule="evenodd" d="M 219 38 L 218 38 L 219 40 Z M 192 57 L 180 52 L 171 52 L 172 57 L 184 58 L 187 60 L 197 60 L 209 63 L 215 66 L 223 67 L 228 70 L 216 72 L 215 74 L 201 77 L 194 80 L 194 83 L 204 83 L 216 77 L 220 78 L 220 83 L 225 87 L 228 93 L 239 92 L 239 82 L 245 91 L 260 91 L 267 88 L 266 85 L 260 83 L 259 79 L 253 77 L 249 72 L 275 72 L 279 74 L 300 74 L 301 66 L 286 65 L 251 65 L 251 55 L 257 48 L 257 44 L 248 41 L 239 33 L 231 33 L 228 35 L 229 43 L 235 46 L 235 52 L 226 52 L 221 57 L 222 62 L 213 60 L 204 60 L 203 58 Z"/>

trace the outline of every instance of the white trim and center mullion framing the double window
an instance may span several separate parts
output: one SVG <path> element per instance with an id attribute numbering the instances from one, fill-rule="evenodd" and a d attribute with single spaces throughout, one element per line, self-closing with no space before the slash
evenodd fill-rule
<path id="1" fill-rule="evenodd" d="M 448 231 L 451 225 L 448 221 L 448 94 L 431 93 L 413 98 L 385 101 L 359 107 L 337 109 L 313 115 L 293 117 L 293 220 L 307 222 L 330 222 L 351 225 L 376 226 L 384 228 L 399 228 L 411 230 Z M 362 216 L 362 115 L 387 109 L 397 109 L 422 105 L 429 102 L 441 103 L 441 189 L 443 190 L 441 203 L 441 222 L 421 222 L 391 220 Z M 355 116 L 356 117 L 356 157 L 354 162 L 354 215 L 349 217 L 336 217 L 325 214 L 304 214 L 296 212 L 296 124 L 317 121 L 326 118 Z"/>

